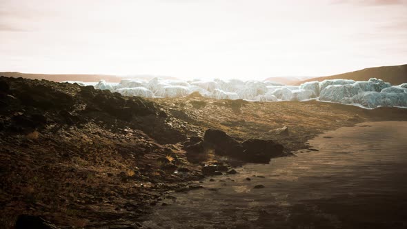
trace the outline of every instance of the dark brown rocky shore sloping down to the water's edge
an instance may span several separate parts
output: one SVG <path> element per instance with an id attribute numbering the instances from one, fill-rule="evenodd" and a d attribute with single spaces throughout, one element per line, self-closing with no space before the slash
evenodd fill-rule
<path id="1" fill-rule="evenodd" d="M 197 93 L 147 100 L 1 77 L 0 228 L 45 221 L 52 225 L 44 228 L 138 228 L 172 191 L 204 188 L 189 181 L 313 150 L 306 141 L 325 130 L 406 119 L 401 108 Z"/>

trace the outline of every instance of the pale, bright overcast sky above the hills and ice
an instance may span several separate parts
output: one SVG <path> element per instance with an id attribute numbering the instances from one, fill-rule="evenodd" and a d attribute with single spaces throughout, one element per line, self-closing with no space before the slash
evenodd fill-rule
<path id="1" fill-rule="evenodd" d="M 181 79 L 407 63 L 407 0 L 0 0 L 0 71 Z"/>

